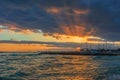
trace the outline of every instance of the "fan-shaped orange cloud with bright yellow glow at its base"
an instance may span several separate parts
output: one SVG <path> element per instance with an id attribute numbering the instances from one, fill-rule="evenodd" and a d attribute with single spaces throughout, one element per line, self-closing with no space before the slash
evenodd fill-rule
<path id="1" fill-rule="evenodd" d="M 60 28 L 63 33 L 44 33 L 43 36 L 56 38 L 56 42 L 84 43 L 95 32 L 94 28 L 87 29 L 82 25 L 65 25 Z"/>

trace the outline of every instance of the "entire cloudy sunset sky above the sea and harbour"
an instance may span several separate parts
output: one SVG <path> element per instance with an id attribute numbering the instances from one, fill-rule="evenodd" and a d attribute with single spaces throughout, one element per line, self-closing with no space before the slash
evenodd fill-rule
<path id="1" fill-rule="evenodd" d="M 0 51 L 77 50 L 83 43 L 118 43 L 119 4 L 120 0 L 0 0 Z"/>

